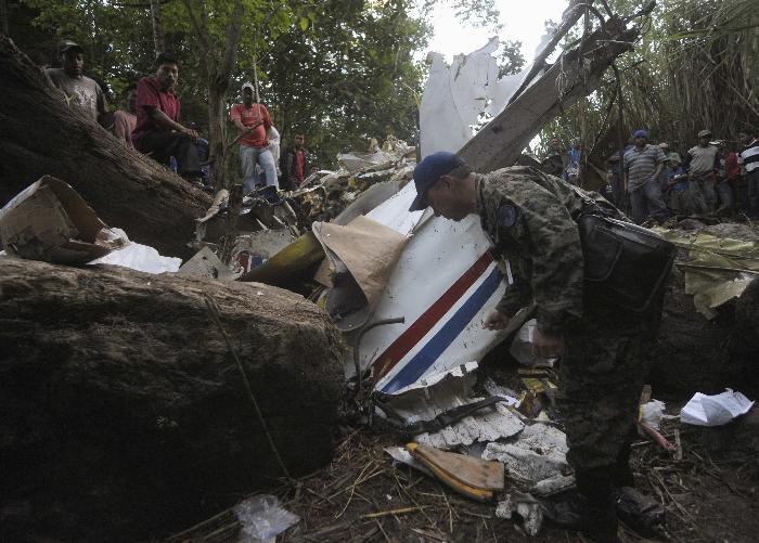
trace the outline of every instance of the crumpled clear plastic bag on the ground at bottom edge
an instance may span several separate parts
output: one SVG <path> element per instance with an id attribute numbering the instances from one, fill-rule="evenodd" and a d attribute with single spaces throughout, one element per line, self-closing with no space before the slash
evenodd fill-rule
<path id="1" fill-rule="evenodd" d="M 234 507 L 234 513 L 242 525 L 239 543 L 268 542 L 300 520 L 270 494 L 248 497 Z"/>

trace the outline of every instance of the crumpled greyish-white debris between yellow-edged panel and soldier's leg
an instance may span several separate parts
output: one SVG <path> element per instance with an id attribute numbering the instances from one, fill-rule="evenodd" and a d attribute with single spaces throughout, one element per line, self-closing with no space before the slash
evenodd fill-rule
<path id="1" fill-rule="evenodd" d="M 509 476 L 530 486 L 568 469 L 566 435 L 546 424 L 532 424 L 513 443 L 488 443 L 483 458 L 501 462 Z"/>

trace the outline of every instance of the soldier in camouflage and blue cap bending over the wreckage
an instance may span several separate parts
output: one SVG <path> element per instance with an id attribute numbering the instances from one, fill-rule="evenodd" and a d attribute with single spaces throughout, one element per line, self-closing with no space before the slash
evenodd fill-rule
<path id="1" fill-rule="evenodd" d="M 456 221 L 477 214 L 497 250 L 510 259 L 514 282 L 486 326 L 501 329 L 533 303 L 536 353 L 562 358 L 558 398 L 578 495 L 562 507 L 546 505 L 548 516 L 597 541 L 617 541 L 613 496 L 633 482 L 630 442 L 648 372 L 644 353 L 660 306 L 641 315 L 583 297 L 574 220 L 583 204 L 558 178 L 522 166 L 477 174 L 458 156 L 440 152 L 416 166 L 414 182 L 410 210 L 429 205 L 436 216 Z"/>

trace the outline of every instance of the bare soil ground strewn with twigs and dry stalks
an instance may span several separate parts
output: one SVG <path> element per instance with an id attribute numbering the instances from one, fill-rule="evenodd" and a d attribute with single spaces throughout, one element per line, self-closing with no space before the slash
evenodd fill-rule
<path id="1" fill-rule="evenodd" d="M 682 403 L 670 401 L 668 411 L 677 413 Z M 680 432 L 682 460 L 651 441 L 634 444 L 638 488 L 667 512 L 666 533 L 657 541 L 757 541 L 759 456 L 748 444 L 759 429 L 754 415 L 719 429 L 665 423 L 662 431 L 670 440 L 676 429 Z M 397 437 L 348 427 L 343 434 L 327 468 L 274 490 L 301 517 L 278 543 L 587 541 L 548 526 L 540 536 L 527 538 L 512 521 L 496 517 L 493 503 L 471 501 L 408 466 L 394 465 L 383 449 L 402 444 Z M 229 528 L 235 531 L 233 521 Z M 625 526 L 620 539 L 651 541 Z M 229 541 L 222 531 L 211 539 L 198 531 L 176 539 L 188 540 Z"/>

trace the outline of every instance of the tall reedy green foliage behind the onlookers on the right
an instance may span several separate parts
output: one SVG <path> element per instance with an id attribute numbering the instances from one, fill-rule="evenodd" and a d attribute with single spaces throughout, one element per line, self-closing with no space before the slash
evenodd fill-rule
<path id="1" fill-rule="evenodd" d="M 642 2 L 608 3 L 628 15 Z M 539 151 L 554 133 L 565 143 L 581 135 L 591 160 L 603 166 L 638 128 L 681 154 L 703 128 L 737 146 L 738 131 L 759 129 L 758 25 L 755 0 L 661 0 L 635 49 L 617 60 L 621 101 L 609 70 L 596 92 L 541 130 Z M 565 43 L 580 35 L 578 24 Z"/>

